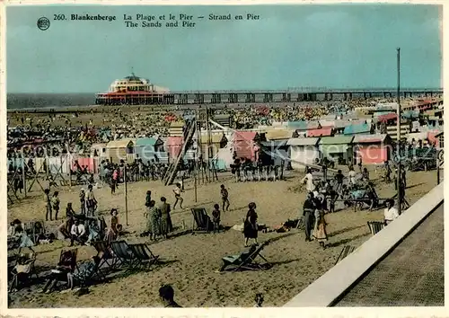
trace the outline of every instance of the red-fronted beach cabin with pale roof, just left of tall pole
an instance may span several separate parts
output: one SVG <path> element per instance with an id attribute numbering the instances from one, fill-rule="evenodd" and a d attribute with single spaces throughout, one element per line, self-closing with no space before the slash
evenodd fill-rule
<path id="1" fill-rule="evenodd" d="M 357 135 L 353 144 L 362 164 L 381 164 L 390 160 L 392 138 L 387 134 Z"/>

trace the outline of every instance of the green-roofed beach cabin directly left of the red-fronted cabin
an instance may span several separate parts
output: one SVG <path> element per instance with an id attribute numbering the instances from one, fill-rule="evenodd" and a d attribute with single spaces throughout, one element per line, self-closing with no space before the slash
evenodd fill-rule
<path id="1" fill-rule="evenodd" d="M 353 136 L 321 137 L 319 145 L 324 157 L 337 162 L 353 162 Z"/>

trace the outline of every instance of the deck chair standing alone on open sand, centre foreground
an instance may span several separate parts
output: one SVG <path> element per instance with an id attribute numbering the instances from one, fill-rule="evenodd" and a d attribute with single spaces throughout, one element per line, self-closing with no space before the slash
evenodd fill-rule
<path id="1" fill-rule="evenodd" d="M 263 250 L 265 246 L 268 245 L 268 242 L 260 244 L 260 246 L 257 246 L 256 244 L 252 244 L 249 249 L 245 249 L 245 251 L 241 252 L 237 255 L 230 255 L 225 256 L 223 261 L 223 266 L 220 269 L 220 271 L 223 270 L 241 270 L 241 269 L 250 269 L 250 270 L 260 270 L 260 269 L 269 269 L 271 268 L 271 264 L 265 257 L 260 254 L 260 252 Z M 257 257 L 260 257 L 263 261 L 265 261 L 264 264 L 259 264 L 255 262 L 255 259 Z"/>

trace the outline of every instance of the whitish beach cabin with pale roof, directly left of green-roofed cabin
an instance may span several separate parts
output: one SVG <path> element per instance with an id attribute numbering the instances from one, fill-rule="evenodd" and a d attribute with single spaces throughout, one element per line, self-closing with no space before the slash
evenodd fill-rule
<path id="1" fill-rule="evenodd" d="M 305 164 L 313 164 L 321 157 L 318 148 L 318 137 L 290 138 L 286 142 L 288 146 L 288 156 L 292 161 L 292 168 L 304 170 Z"/>

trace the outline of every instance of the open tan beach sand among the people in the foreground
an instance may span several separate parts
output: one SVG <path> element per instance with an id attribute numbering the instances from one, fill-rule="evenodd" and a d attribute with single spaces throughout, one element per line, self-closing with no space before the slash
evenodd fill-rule
<path id="1" fill-rule="evenodd" d="M 371 172 L 372 179 L 377 178 Z M 222 216 L 222 224 L 233 226 L 242 224 L 248 203 L 257 204 L 259 223 L 268 226 L 280 225 L 287 219 L 295 219 L 302 213 L 304 191 L 297 193 L 291 189 L 297 186 L 302 175 L 293 172 L 286 181 L 235 182 L 230 173 L 220 173 L 219 181 L 198 186 L 198 202 L 195 202 L 193 182 L 185 183 L 183 193 L 184 209 L 172 212 L 172 221 L 178 232 L 185 226 L 190 229 L 192 216 L 189 208 L 205 207 L 210 214 L 213 204 L 220 203 L 219 185 L 229 189 L 231 210 Z M 393 184 L 374 181 L 379 197 L 391 197 L 395 193 Z M 407 198 L 415 202 L 436 185 L 436 172 L 409 172 Z M 79 208 L 78 193 L 81 187 L 58 189 L 61 207 L 73 202 Z M 220 234 L 182 234 L 166 241 L 152 243 L 148 238 L 140 238 L 145 229 L 145 192 L 152 190 L 156 202 L 165 196 L 173 203 L 172 186 L 163 186 L 160 181 L 136 182 L 128 184 L 128 225 L 125 217 L 124 185 L 119 186 L 115 195 L 109 188 L 95 190 L 99 201 L 100 214 L 109 222 L 110 208 L 119 208 L 119 222 L 130 234 L 124 239 L 130 243 L 149 243 L 151 250 L 160 255 L 161 266 L 151 271 L 140 271 L 128 276 L 111 278 L 109 282 L 89 287 L 90 294 L 75 296 L 59 292 L 40 294 L 38 287 L 24 288 L 11 294 L 12 307 L 156 307 L 161 306 L 158 289 L 163 284 L 171 284 L 175 290 L 175 300 L 182 306 L 252 306 L 256 293 L 263 293 L 266 306 L 284 305 L 304 287 L 330 269 L 341 249 L 346 244 L 359 246 L 370 238 L 366 222 L 382 220 L 383 210 L 368 213 L 354 212 L 354 209 L 340 210 L 326 216 L 329 234 L 329 248 L 322 250 L 317 242 L 304 242 L 304 231 L 292 230 L 284 234 L 259 234 L 259 241 L 277 238 L 262 252 L 270 262 L 271 269 L 265 271 L 216 272 L 225 255 L 242 252 L 243 235 L 230 229 Z M 53 192 L 53 190 L 52 190 Z M 22 199 L 8 209 L 8 221 L 19 218 L 23 222 L 44 218 L 42 192 L 34 190 L 34 197 Z M 61 214 L 65 214 L 65 211 Z M 61 221 L 48 222 L 56 228 Z M 68 242 L 57 241 L 40 245 L 38 270 L 50 269 L 57 263 L 60 250 Z M 96 252 L 92 246 L 79 247 L 78 260 L 86 260 Z M 39 288 L 42 286 L 40 285 Z"/>

